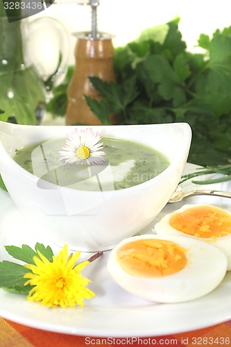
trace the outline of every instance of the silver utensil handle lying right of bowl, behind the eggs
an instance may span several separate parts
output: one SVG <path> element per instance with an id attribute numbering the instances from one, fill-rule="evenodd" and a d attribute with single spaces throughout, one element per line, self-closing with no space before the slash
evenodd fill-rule
<path id="1" fill-rule="evenodd" d="M 169 203 L 178 203 L 182 201 L 184 198 L 188 198 L 189 196 L 197 196 L 197 195 L 211 195 L 211 196 L 221 196 L 223 198 L 231 198 L 231 192 L 221 192 L 219 190 L 212 189 L 201 189 L 201 190 L 193 190 L 191 192 L 185 193 L 181 187 L 177 187 L 175 192 L 172 194 L 169 199 Z"/>

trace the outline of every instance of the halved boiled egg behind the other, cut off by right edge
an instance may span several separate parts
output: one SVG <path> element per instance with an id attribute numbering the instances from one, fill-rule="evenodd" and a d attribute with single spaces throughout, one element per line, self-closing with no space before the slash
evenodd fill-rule
<path id="1" fill-rule="evenodd" d="M 213 205 L 184 205 L 155 224 L 157 235 L 187 236 L 212 244 L 228 259 L 231 270 L 231 214 Z"/>

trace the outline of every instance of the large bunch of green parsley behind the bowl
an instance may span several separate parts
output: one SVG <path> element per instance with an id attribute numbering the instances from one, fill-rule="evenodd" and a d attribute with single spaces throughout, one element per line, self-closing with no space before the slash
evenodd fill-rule
<path id="1" fill-rule="evenodd" d="M 122 124 L 187 122 L 193 138 L 189 162 L 228 164 L 231 156 L 231 26 L 201 34 L 202 53 L 187 51 L 180 18 L 146 29 L 114 49 L 117 83 L 90 78 L 100 100 L 87 97 L 98 117 L 119 114 Z M 108 115 L 106 114 L 108 112 Z"/>

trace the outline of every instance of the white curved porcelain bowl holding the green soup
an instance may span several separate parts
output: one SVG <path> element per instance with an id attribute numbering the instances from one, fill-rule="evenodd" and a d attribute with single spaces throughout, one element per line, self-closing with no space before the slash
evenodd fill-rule
<path id="1" fill-rule="evenodd" d="M 141 232 L 164 208 L 185 168 L 191 128 L 186 123 L 91 126 L 103 137 L 139 142 L 169 159 L 169 167 L 161 174 L 126 189 L 90 192 L 53 184 L 42 189 L 38 184 L 41 178 L 12 159 L 15 149 L 40 140 L 65 137 L 75 128 L 87 126 L 23 126 L 0 122 L 0 174 L 19 210 L 41 226 L 53 243 L 68 244 L 73 250 L 103 251 Z"/>

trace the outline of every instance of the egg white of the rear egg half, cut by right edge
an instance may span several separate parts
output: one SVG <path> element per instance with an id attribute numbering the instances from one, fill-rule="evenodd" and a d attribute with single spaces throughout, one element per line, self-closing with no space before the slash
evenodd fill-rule
<path id="1" fill-rule="evenodd" d="M 172 226 L 169 225 L 169 220 L 173 216 L 173 214 L 183 212 L 187 210 L 188 208 L 193 208 L 196 206 L 205 206 L 207 204 L 188 204 L 183 205 L 182 208 L 179 210 L 176 210 L 174 212 L 171 212 L 169 214 L 166 214 L 158 223 L 155 224 L 154 232 L 157 235 L 174 235 L 174 236 L 185 236 L 190 237 L 193 239 L 198 239 L 200 241 L 206 242 L 207 244 L 212 244 L 213 246 L 219 248 L 223 253 L 225 253 L 228 264 L 227 264 L 227 270 L 231 270 L 231 234 L 225 235 L 222 237 L 195 237 L 193 235 L 187 235 L 185 232 L 181 232 L 179 230 L 176 230 Z M 228 212 L 228 211 L 226 211 Z M 228 212 L 229 213 L 229 212 Z"/>

